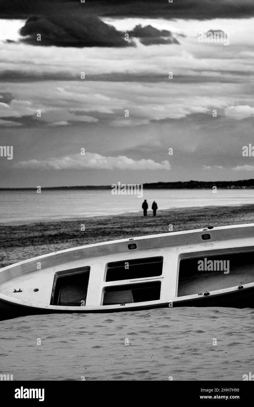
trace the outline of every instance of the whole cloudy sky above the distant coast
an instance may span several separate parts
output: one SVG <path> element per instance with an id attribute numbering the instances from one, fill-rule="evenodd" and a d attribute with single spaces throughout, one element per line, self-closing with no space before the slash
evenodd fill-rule
<path id="1" fill-rule="evenodd" d="M 0 187 L 254 178 L 252 0 L 0 0 L 0 18 Z"/>

